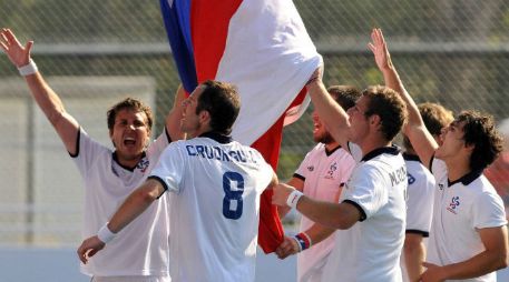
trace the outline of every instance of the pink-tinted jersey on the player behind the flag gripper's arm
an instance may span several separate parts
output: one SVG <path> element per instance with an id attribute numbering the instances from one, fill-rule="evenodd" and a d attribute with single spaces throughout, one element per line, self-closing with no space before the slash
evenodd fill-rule
<path id="1" fill-rule="evenodd" d="M 327 152 L 325 144 L 319 143 L 306 154 L 293 177 L 304 181 L 305 195 L 332 202 L 354 167 L 352 155 L 341 147 Z M 313 221 L 302 215 L 300 231 L 306 231 L 313 224 Z M 334 234 L 297 254 L 297 281 L 320 281 L 323 266 L 334 246 Z"/>

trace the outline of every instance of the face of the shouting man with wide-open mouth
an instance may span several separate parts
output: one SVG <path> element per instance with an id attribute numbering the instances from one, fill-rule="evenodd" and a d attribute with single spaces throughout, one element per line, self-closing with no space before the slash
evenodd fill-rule
<path id="1" fill-rule="evenodd" d="M 139 159 L 150 138 L 147 114 L 131 109 L 118 111 L 109 134 L 120 162 Z"/>

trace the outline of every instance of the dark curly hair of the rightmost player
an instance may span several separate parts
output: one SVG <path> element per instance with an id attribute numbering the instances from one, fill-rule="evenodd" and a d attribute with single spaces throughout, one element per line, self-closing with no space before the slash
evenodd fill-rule
<path id="1" fill-rule="evenodd" d="M 470 169 L 472 171 L 486 169 L 503 150 L 503 139 L 496 129 L 493 117 L 478 111 L 462 111 L 457 121 L 464 122 L 464 143 L 473 145 Z"/>

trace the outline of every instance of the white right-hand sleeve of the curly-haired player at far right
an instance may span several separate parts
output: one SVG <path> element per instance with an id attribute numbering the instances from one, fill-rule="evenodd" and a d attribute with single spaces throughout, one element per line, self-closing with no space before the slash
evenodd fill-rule
<path id="1" fill-rule="evenodd" d="M 496 228 L 507 224 L 503 202 L 495 192 L 480 193 L 472 209 L 472 228 Z"/>

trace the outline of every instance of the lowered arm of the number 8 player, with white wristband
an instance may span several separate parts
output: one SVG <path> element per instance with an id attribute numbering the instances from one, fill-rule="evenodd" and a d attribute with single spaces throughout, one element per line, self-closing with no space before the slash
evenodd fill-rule
<path id="1" fill-rule="evenodd" d="M 111 220 L 99 230 L 97 235 L 86 239 L 78 248 L 78 258 L 82 263 L 105 248 L 120 230 L 141 214 L 165 191 L 163 184 L 154 179 L 147 180 L 136 189 L 118 208 Z"/>

